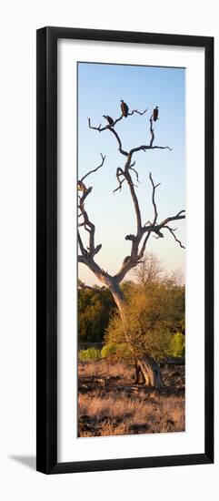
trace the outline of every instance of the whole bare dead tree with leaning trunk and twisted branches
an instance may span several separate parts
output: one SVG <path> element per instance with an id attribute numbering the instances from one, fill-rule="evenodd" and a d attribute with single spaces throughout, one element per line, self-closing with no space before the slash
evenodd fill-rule
<path id="1" fill-rule="evenodd" d="M 133 116 L 134 113 L 139 115 L 144 115 L 146 113 L 146 109 L 143 112 L 134 109 L 132 112 L 128 113 L 128 116 Z M 139 356 L 139 353 L 136 354 L 134 343 L 132 343 L 132 339 L 130 339 L 127 330 L 125 329 L 125 298 L 124 293 L 121 290 L 120 284 L 124 280 L 125 275 L 128 271 L 132 270 L 135 266 L 137 266 L 144 257 L 144 251 L 146 249 L 148 240 L 151 236 L 154 236 L 156 239 L 164 238 L 164 232 L 170 233 L 174 240 L 180 245 L 180 247 L 184 248 L 184 245 L 178 240 L 175 236 L 175 230 L 170 226 L 170 223 L 175 220 L 184 220 L 185 214 L 184 210 L 180 210 L 177 214 L 173 216 L 168 216 L 164 220 L 158 220 L 158 210 L 155 201 L 155 191 L 159 184 L 154 184 L 154 179 L 152 174 L 149 174 L 149 179 L 152 185 L 152 204 L 154 207 L 154 219 L 152 221 L 144 222 L 142 220 L 142 214 L 139 206 L 139 200 L 136 195 L 136 189 L 134 186 L 133 176 L 135 176 L 138 181 L 138 172 L 134 169 L 135 161 L 134 155 L 139 151 L 146 151 L 147 149 L 169 149 L 168 146 L 155 146 L 154 145 L 154 128 L 153 128 L 153 115 L 149 118 L 150 123 L 150 142 L 147 145 L 137 146 L 135 148 L 131 148 L 129 151 L 126 151 L 123 148 L 121 138 L 119 137 L 117 131 L 115 130 L 115 125 L 122 120 L 124 117 L 121 115 L 119 118 L 114 120 L 112 125 L 106 125 L 102 127 L 100 124 L 98 127 L 93 127 L 91 124 L 91 119 L 88 118 L 88 126 L 91 129 L 98 131 L 99 133 L 105 132 L 114 135 L 115 141 L 117 142 L 118 150 L 121 155 L 124 157 L 124 168 L 116 169 L 116 179 L 118 182 L 118 186 L 114 189 L 116 191 L 122 191 L 124 183 L 127 184 L 130 196 L 133 201 L 135 220 L 136 220 L 136 230 L 135 234 L 130 234 L 125 236 L 125 240 L 129 240 L 131 244 L 130 256 L 128 259 L 124 259 L 121 268 L 117 271 L 117 273 L 112 276 L 107 271 L 103 270 L 95 261 L 95 256 L 101 250 L 102 245 L 99 243 L 95 244 L 95 224 L 90 220 L 87 211 L 85 209 L 85 201 L 87 197 L 92 192 L 92 187 L 86 187 L 86 179 L 92 173 L 95 173 L 98 169 L 101 169 L 105 163 L 105 157 L 101 154 L 101 163 L 95 169 L 90 170 L 85 174 L 82 179 L 78 180 L 78 262 L 82 262 L 89 268 L 90 271 L 95 273 L 95 277 L 104 284 L 104 287 L 107 287 L 114 297 L 114 302 L 116 303 L 118 310 L 120 312 L 121 321 L 124 325 L 124 337 L 126 343 L 128 343 L 135 360 L 136 367 L 136 380 L 139 379 L 139 373 L 142 373 L 144 382 L 148 386 L 152 386 L 155 388 L 160 388 L 163 385 L 162 377 L 160 373 L 160 368 L 157 363 L 154 362 L 152 358 L 149 356 L 142 354 Z M 85 248 L 85 243 L 80 234 L 80 229 L 84 228 L 88 234 L 88 247 Z M 102 288 L 99 289 L 101 291 Z"/>

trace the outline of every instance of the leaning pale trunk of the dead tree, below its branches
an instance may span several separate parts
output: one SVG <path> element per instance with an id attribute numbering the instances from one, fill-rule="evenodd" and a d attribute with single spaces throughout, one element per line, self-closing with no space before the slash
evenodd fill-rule
<path id="1" fill-rule="evenodd" d="M 135 371 L 136 371 L 135 383 L 140 382 L 140 374 L 141 374 L 144 380 L 144 384 L 146 386 L 151 386 L 156 389 L 164 387 L 159 365 L 155 363 L 154 360 L 147 355 L 139 356 L 138 354 L 134 353 L 135 352 L 134 345 L 132 343 L 132 340 L 129 339 L 125 329 L 125 308 L 124 308 L 125 299 L 123 291 L 121 291 L 116 281 L 111 281 L 111 284 L 109 285 L 109 290 L 111 291 L 114 297 L 114 302 L 116 303 L 118 310 L 120 312 L 121 321 L 123 322 L 124 325 L 124 337 L 126 343 L 130 347 L 134 355 Z"/>

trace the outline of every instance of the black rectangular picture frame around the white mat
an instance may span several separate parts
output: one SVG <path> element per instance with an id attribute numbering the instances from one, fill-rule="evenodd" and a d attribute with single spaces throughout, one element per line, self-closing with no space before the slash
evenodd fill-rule
<path id="1" fill-rule="evenodd" d="M 57 40 L 204 47 L 204 454 L 57 462 Z M 45 474 L 214 462 L 214 38 L 65 27 L 37 30 L 36 469 Z M 197 285 L 198 286 L 198 285 Z"/>

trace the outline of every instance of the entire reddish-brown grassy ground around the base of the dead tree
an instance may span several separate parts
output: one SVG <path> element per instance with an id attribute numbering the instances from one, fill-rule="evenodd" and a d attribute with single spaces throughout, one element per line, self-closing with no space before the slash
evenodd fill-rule
<path id="1" fill-rule="evenodd" d="M 134 366 L 105 360 L 79 363 L 78 435 L 184 431 L 184 366 L 164 366 L 164 389 L 134 384 Z"/>

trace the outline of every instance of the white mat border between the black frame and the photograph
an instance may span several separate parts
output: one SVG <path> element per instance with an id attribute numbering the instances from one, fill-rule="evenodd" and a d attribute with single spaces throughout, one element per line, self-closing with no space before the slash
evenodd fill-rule
<path id="1" fill-rule="evenodd" d="M 186 68 L 186 431 L 77 438 L 76 63 Z M 58 462 L 204 453 L 204 49 L 58 40 Z M 198 356 L 197 356 L 198 355 Z"/>

